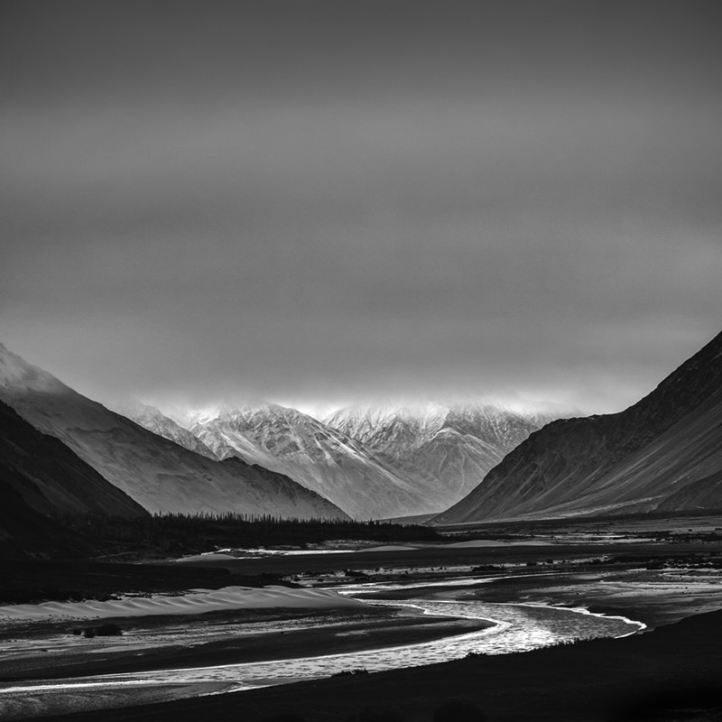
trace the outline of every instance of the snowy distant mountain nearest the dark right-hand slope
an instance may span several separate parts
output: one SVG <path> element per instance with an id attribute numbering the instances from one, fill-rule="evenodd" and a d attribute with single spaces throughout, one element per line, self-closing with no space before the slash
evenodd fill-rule
<path id="1" fill-rule="evenodd" d="M 454 504 L 508 451 L 553 418 L 492 403 L 358 404 L 334 413 L 327 423 L 362 441 L 403 477 L 421 478 L 440 489 L 447 504 Z"/>

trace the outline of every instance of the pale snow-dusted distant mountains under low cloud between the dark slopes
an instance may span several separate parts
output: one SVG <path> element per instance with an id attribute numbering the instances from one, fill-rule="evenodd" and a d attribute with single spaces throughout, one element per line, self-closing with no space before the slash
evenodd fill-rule
<path id="1" fill-rule="evenodd" d="M 134 411 L 134 407 L 130 411 Z M 476 486 L 548 413 L 502 405 L 354 405 L 318 420 L 273 403 L 181 414 L 141 405 L 134 421 L 177 443 L 186 426 L 216 458 L 285 474 L 357 519 L 431 514 Z M 165 421 L 163 421 L 165 420 Z"/>

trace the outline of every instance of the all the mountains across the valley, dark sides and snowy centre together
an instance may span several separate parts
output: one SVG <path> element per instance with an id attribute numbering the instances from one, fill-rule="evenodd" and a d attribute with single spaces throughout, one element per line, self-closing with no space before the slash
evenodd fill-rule
<path id="1" fill-rule="evenodd" d="M 605 416 L 493 403 L 358 404 L 323 420 L 272 403 L 177 421 L 140 403 L 116 409 L 126 415 L 0 346 L 5 516 L 437 514 L 433 523 L 455 524 L 722 507 L 722 334 Z"/>

